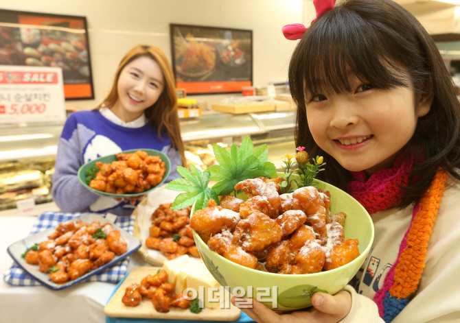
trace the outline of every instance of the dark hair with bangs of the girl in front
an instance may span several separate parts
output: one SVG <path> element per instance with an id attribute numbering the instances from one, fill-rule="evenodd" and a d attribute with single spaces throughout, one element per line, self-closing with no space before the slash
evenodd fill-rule
<path id="1" fill-rule="evenodd" d="M 314 142 L 305 93 L 352 91 L 350 72 L 378 88 L 411 88 L 414 105 L 420 95 L 433 95 L 430 111 L 419 117 L 403 149 L 419 162 L 414 163 L 400 207 L 422 196 L 439 167 L 460 180 L 460 104 L 452 77 L 424 27 L 390 0 L 343 1 L 312 24 L 292 54 L 289 86 L 297 104 L 295 141 L 310 156 L 324 157 L 326 171 L 318 179 L 347 191 L 352 176 Z"/>

